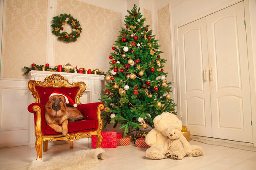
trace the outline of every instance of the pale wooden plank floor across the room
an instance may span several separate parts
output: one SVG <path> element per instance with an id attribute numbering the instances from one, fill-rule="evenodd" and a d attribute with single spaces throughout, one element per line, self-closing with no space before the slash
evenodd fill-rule
<path id="1" fill-rule="evenodd" d="M 256 147 L 204 139 L 200 141 L 204 143 L 192 140 L 190 144 L 202 146 L 204 156 L 185 157 L 183 160 L 146 159 L 146 148 L 135 147 L 133 143 L 130 146 L 105 149 L 107 159 L 99 160 L 100 163 L 91 170 L 256 170 Z M 67 155 L 82 149 L 90 149 L 89 144 L 75 142 L 73 149 L 69 148 L 69 144 L 49 146 L 48 151 L 43 152 L 43 160 L 48 161 L 53 156 Z M 2 148 L 0 149 L 0 169 L 25 170 L 35 158 L 35 148 L 28 146 Z"/>

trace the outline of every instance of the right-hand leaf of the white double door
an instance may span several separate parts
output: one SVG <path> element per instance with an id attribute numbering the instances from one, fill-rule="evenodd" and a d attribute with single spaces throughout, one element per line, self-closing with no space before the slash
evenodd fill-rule
<path id="1" fill-rule="evenodd" d="M 243 2 L 206 17 L 212 136 L 253 142 Z"/>

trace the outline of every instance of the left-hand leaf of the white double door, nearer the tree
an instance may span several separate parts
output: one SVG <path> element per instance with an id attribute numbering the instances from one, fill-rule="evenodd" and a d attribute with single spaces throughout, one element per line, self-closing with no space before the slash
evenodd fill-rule
<path id="1" fill-rule="evenodd" d="M 205 18 L 179 27 L 178 42 L 183 125 L 192 135 L 212 137 Z"/>

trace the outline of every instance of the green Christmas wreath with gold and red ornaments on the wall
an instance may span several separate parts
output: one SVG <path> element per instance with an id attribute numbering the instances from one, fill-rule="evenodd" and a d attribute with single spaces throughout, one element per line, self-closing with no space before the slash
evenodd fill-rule
<path id="1" fill-rule="evenodd" d="M 64 32 L 64 25 L 70 24 L 72 28 L 71 33 Z M 58 36 L 58 40 L 65 42 L 74 42 L 78 37 L 82 28 L 80 27 L 79 21 L 74 19 L 70 14 L 60 14 L 60 16 L 53 17 L 52 20 L 52 33 Z"/>

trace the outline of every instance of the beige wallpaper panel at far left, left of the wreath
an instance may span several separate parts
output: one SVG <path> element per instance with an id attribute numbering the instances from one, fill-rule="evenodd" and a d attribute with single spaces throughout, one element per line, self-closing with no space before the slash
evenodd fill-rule
<path id="1" fill-rule="evenodd" d="M 24 66 L 46 61 L 47 0 L 6 0 L 3 78 L 21 78 Z"/>

